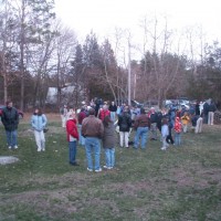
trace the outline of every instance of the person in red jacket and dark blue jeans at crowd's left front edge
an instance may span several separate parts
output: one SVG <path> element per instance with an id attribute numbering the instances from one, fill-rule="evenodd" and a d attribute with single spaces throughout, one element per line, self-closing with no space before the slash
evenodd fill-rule
<path id="1" fill-rule="evenodd" d="M 76 126 L 76 114 L 70 113 L 66 122 L 66 138 L 69 141 L 69 160 L 70 165 L 78 166 L 76 162 L 76 144 L 78 140 L 78 131 Z"/>

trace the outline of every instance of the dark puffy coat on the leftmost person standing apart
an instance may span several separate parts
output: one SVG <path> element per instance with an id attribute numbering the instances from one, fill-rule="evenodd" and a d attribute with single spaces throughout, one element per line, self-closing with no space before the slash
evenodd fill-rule
<path id="1" fill-rule="evenodd" d="M 14 107 L 4 107 L 2 109 L 1 122 L 4 129 L 8 131 L 13 131 L 18 129 L 19 125 L 19 114 Z"/>

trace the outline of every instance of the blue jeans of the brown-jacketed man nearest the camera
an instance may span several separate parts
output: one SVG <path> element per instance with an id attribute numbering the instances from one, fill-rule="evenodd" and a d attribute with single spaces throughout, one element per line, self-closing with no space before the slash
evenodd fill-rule
<path id="1" fill-rule="evenodd" d="M 87 159 L 87 168 L 93 169 L 93 159 L 92 154 L 94 154 L 95 158 L 95 170 L 101 168 L 99 166 L 99 156 L 101 156 L 101 141 L 96 137 L 86 137 L 85 138 L 85 150 L 86 150 L 86 159 Z"/>

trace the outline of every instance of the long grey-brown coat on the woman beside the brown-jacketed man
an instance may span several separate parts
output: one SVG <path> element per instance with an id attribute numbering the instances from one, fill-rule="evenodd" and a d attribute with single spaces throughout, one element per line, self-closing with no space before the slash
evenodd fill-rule
<path id="1" fill-rule="evenodd" d="M 103 147 L 114 148 L 115 145 L 116 145 L 115 126 L 114 123 L 109 123 L 108 126 L 104 126 Z"/>

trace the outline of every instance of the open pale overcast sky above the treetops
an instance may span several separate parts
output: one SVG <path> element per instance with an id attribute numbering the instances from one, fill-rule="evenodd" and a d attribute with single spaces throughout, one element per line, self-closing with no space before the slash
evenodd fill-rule
<path id="1" fill-rule="evenodd" d="M 99 36 L 114 28 L 130 29 L 149 14 L 166 14 L 170 28 L 202 25 L 214 39 L 221 38 L 221 0 L 55 0 L 57 17 L 80 36 L 93 30 Z"/>

